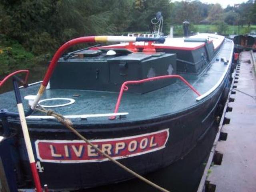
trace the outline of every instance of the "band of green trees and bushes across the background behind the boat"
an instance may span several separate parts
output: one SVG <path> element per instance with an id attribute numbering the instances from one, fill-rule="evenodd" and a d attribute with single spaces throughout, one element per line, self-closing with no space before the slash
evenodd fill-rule
<path id="1" fill-rule="evenodd" d="M 219 4 L 198 0 L 2 0 L 0 72 L 32 66 L 32 60 L 36 66 L 46 63 L 61 44 L 79 36 L 149 32 L 158 11 L 164 17 L 165 34 L 174 25 L 174 34 L 179 36 L 183 35 L 184 20 L 190 22 L 193 32 L 227 34 L 238 32 L 238 26 L 227 27 L 224 22 L 239 25 L 240 33 L 255 29 L 252 24 L 256 23 L 253 0 L 224 10 Z M 195 25 L 200 22 L 216 25 Z M 3 37 L 8 40 L 4 42 Z"/>

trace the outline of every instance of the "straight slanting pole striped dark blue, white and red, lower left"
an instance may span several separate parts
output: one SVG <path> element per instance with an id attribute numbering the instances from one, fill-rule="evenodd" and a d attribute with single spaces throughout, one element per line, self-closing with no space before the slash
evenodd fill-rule
<path id="1" fill-rule="evenodd" d="M 29 159 L 29 162 L 30 162 L 30 168 L 31 168 L 32 176 L 33 176 L 34 183 L 35 183 L 35 186 L 36 186 L 36 192 L 42 192 L 41 183 L 40 183 L 40 179 L 39 179 L 39 176 L 38 176 L 38 172 L 36 170 L 35 158 L 34 158 L 32 146 L 31 146 L 31 141 L 30 141 L 30 137 L 29 137 L 29 133 L 28 133 L 28 126 L 27 126 L 27 123 L 26 123 L 23 104 L 22 104 L 22 101 L 21 101 L 21 96 L 20 96 L 20 92 L 19 92 L 18 83 L 17 83 L 15 77 L 13 78 L 13 86 L 14 86 L 14 92 L 15 92 L 15 97 L 16 97 L 16 103 L 17 103 L 17 107 L 18 107 L 18 113 L 19 113 L 19 116 L 20 116 L 20 124 L 21 124 L 21 127 L 22 127 L 22 132 L 23 132 L 23 136 L 24 136 L 24 140 L 25 140 L 25 144 L 26 144 L 26 149 L 27 149 L 27 152 L 28 152 L 28 159 Z"/>

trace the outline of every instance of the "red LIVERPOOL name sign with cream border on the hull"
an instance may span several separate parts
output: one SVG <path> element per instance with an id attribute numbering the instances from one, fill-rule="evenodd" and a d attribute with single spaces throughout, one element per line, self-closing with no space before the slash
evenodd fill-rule
<path id="1" fill-rule="evenodd" d="M 169 129 L 148 134 L 91 140 L 115 159 L 128 158 L 165 148 Z M 108 160 L 92 146 L 81 140 L 36 140 L 36 154 L 41 162 L 81 163 Z"/>

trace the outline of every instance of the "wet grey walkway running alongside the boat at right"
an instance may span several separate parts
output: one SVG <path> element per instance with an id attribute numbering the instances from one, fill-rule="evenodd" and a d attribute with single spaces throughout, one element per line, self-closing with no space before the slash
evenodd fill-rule
<path id="1" fill-rule="evenodd" d="M 234 102 L 228 104 L 232 112 L 226 113 L 230 124 L 222 126 L 228 138 L 216 146 L 223 154 L 222 165 L 212 166 L 207 178 L 216 185 L 215 192 L 256 191 L 256 75 L 252 55 L 242 52 L 234 72 L 232 91 L 236 93 L 231 94 Z"/>

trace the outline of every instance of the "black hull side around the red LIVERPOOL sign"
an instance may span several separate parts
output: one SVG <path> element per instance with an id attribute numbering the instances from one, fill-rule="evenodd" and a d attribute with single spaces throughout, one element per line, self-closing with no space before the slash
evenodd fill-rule
<path id="1" fill-rule="evenodd" d="M 231 65 L 230 65 L 231 67 Z M 119 161 L 139 174 L 153 172 L 164 168 L 186 156 L 216 122 L 216 110 L 224 97 L 223 92 L 230 85 L 230 69 L 220 86 L 196 105 L 187 110 L 163 115 L 158 118 L 137 122 L 114 124 L 76 125 L 75 128 L 88 139 L 120 138 L 156 132 L 169 128 L 170 136 L 165 148 Z M 226 96 L 226 95 L 225 95 Z M 11 123 L 14 130 L 19 124 Z M 34 154 L 35 141 L 76 140 L 76 136 L 57 123 L 31 124 L 28 122 Z M 21 131 L 17 133 L 18 153 L 22 164 L 24 178 L 30 178 L 30 169 L 25 144 Z M 36 161 L 38 161 L 35 155 Z M 86 163 L 52 163 L 41 162 L 44 172 L 39 172 L 41 182 L 51 189 L 81 189 L 121 182 L 132 175 L 109 161 Z"/>

